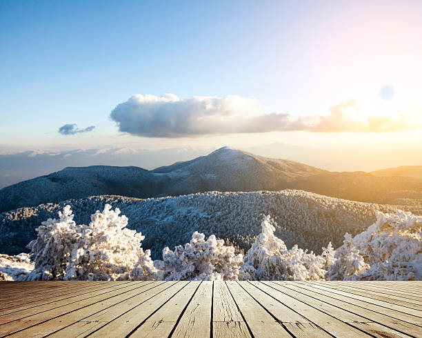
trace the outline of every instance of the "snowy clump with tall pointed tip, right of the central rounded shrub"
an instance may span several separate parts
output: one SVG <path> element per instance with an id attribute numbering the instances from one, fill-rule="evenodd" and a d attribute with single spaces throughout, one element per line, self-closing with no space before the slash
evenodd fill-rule
<path id="1" fill-rule="evenodd" d="M 270 216 L 264 217 L 262 232 L 257 236 L 245 256 L 242 270 L 245 279 L 257 280 L 318 280 L 323 279 L 328 259 L 313 252 L 285 243 L 274 236 Z M 330 245 L 329 245 L 330 247 Z M 330 247 L 329 250 L 332 250 Z M 330 252 L 330 255 L 332 253 Z M 249 275 L 249 276 L 248 276 Z"/>

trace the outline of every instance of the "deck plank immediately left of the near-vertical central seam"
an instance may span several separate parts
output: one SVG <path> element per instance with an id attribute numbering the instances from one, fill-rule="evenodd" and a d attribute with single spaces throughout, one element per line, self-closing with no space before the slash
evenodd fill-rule
<path id="1" fill-rule="evenodd" d="M 212 281 L 203 281 L 173 332 L 173 337 L 210 337 Z"/>

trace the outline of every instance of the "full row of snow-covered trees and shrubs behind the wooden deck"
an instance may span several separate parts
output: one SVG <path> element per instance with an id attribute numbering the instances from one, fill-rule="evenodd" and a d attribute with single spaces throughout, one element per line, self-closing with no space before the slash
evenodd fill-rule
<path id="1" fill-rule="evenodd" d="M 185 246 L 165 247 L 153 261 L 145 237 L 126 228 L 128 218 L 106 204 L 77 225 L 70 206 L 37 228 L 30 256 L 0 256 L 6 280 L 422 280 L 422 217 L 398 210 L 376 212 L 376 221 L 343 245 L 328 243 L 321 255 L 288 249 L 263 217 L 261 233 L 243 257 L 223 239 L 195 231 Z M 34 261 L 34 265 L 30 261 Z"/>

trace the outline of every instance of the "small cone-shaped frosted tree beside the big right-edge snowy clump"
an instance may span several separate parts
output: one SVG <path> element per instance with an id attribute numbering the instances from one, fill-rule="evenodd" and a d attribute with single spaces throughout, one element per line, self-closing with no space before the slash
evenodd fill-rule
<path id="1" fill-rule="evenodd" d="M 353 243 L 352 236 L 346 232 L 343 246 L 336 250 L 334 264 L 330 266 L 326 277 L 336 281 L 350 281 L 356 278 L 370 266 L 359 255 L 359 249 Z"/>

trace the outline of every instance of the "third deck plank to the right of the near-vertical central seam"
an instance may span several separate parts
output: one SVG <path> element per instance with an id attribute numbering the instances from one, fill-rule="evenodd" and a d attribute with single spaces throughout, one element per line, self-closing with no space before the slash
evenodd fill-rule
<path id="1" fill-rule="evenodd" d="M 331 337 L 327 332 L 316 326 L 312 321 L 294 312 L 280 301 L 277 301 L 263 290 L 257 288 L 247 281 L 239 282 L 240 286 L 248 292 L 251 297 L 270 312 L 283 326 L 288 329 L 294 337 Z"/>

